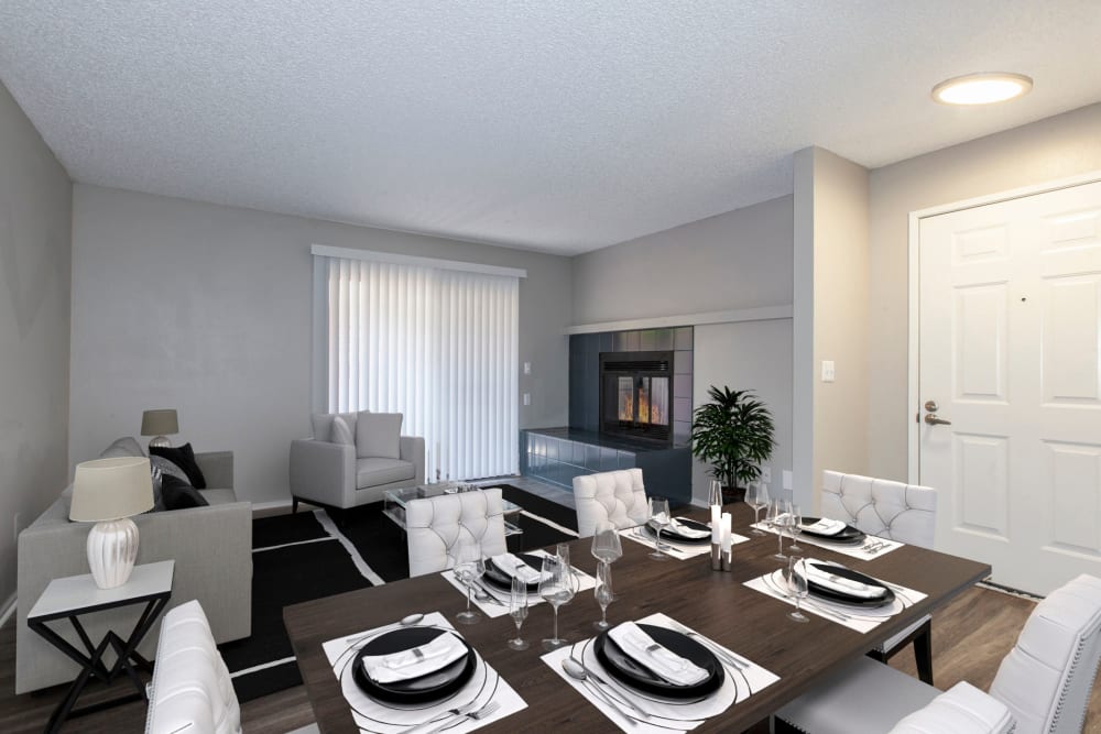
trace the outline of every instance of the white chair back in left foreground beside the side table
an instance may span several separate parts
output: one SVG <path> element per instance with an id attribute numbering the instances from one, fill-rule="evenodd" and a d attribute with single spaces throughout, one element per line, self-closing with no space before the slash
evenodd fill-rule
<path id="1" fill-rule="evenodd" d="M 203 607 L 195 600 L 161 622 L 146 734 L 239 734 L 241 709 Z"/>

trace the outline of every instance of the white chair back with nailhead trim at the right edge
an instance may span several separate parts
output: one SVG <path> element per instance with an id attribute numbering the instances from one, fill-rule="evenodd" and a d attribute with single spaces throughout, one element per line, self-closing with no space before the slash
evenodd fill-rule
<path id="1" fill-rule="evenodd" d="M 1082 574 L 1036 605 L 990 694 L 1020 734 L 1081 732 L 1101 657 L 1101 579 Z"/>

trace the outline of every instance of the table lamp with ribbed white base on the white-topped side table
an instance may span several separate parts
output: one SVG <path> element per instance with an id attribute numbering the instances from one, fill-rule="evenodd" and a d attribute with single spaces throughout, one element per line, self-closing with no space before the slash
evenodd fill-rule
<path id="1" fill-rule="evenodd" d="M 121 587 L 138 559 L 138 526 L 153 507 L 149 459 L 96 459 L 76 465 L 69 519 L 96 523 L 88 533 L 88 566 L 100 589 Z"/>

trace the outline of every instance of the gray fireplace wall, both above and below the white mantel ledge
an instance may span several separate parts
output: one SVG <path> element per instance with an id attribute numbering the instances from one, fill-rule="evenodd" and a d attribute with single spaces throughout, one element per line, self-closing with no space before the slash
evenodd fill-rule
<path id="1" fill-rule="evenodd" d="M 784 196 L 579 255 L 574 324 L 791 304 L 793 226 Z M 694 407 L 711 385 L 729 385 L 757 390 L 772 409 L 780 490 L 792 468 L 792 320 L 696 326 L 694 343 Z M 706 467 L 693 469 L 693 492 L 706 499 Z"/>

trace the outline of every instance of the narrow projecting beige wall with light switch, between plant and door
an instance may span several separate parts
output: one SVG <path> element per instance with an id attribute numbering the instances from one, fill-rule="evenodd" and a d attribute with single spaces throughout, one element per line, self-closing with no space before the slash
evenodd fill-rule
<path id="1" fill-rule="evenodd" d="M 794 491 L 809 507 L 824 469 L 868 471 L 869 172 L 820 147 L 796 157 L 796 211 L 804 218 L 796 281 L 811 285 L 809 294 L 798 292 L 794 379 L 798 398 L 813 403 L 797 406 L 796 418 L 809 418 L 813 428 L 799 434 Z M 833 382 L 821 380 L 826 360 Z"/>

